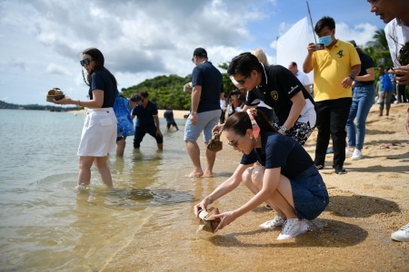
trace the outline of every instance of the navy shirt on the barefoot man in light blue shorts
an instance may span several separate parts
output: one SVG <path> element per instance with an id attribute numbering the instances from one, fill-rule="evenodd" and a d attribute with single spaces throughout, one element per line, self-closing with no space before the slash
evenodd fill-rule
<path id="1" fill-rule="evenodd" d="M 222 73 L 210 62 L 197 65 L 192 72 L 192 86 L 202 86 L 197 112 L 220 110 L 220 93 L 224 92 Z"/>

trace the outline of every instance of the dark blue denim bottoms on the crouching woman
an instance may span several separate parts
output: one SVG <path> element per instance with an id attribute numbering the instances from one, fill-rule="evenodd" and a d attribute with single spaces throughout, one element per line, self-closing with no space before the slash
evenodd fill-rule
<path id="1" fill-rule="evenodd" d="M 289 180 L 297 217 L 307 220 L 316 219 L 329 203 L 328 191 L 321 174 L 313 165 Z"/>

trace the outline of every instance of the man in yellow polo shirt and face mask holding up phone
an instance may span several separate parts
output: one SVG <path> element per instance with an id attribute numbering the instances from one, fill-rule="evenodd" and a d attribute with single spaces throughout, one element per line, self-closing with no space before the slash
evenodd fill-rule
<path id="1" fill-rule="evenodd" d="M 324 169 L 325 154 L 330 135 L 333 139 L 336 174 L 345 174 L 345 125 L 352 103 L 352 83 L 361 71 L 361 61 L 354 45 L 335 39 L 335 22 L 324 16 L 314 27 L 319 43 L 308 44 L 304 73 L 314 69 L 314 100 L 316 104 L 318 136 L 315 147 L 315 167 Z M 319 47 L 318 47 L 319 48 Z"/>

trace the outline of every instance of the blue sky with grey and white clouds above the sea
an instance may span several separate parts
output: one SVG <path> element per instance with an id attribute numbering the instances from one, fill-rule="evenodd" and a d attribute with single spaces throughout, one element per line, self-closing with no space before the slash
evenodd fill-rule
<path id="1" fill-rule="evenodd" d="M 308 3 L 314 24 L 334 17 L 341 40 L 364 45 L 384 28 L 364 0 Z M 119 89 L 191 73 L 195 47 L 215 65 L 257 47 L 274 63 L 276 37 L 306 15 L 302 0 L 0 0 L 0 100 L 46 104 L 53 87 L 85 99 L 79 60 L 88 47 L 104 53 Z"/>

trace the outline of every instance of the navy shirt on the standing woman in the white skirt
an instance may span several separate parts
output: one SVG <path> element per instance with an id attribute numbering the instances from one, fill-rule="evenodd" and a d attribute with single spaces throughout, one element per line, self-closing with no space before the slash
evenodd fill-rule
<path id="1" fill-rule="evenodd" d="M 101 108 L 114 107 L 116 97 L 116 86 L 111 80 L 111 77 L 105 71 L 95 71 L 91 74 L 89 83 L 89 99 L 93 99 L 93 90 L 98 89 L 104 91 L 104 103 Z"/>

